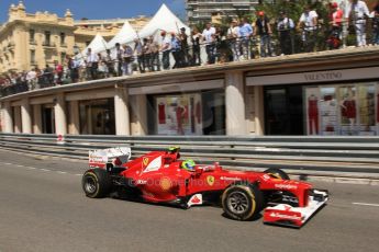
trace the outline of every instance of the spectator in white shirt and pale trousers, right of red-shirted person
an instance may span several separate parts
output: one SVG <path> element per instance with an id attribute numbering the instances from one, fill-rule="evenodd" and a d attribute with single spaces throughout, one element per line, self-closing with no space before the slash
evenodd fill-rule
<path id="1" fill-rule="evenodd" d="M 352 21 L 354 25 L 357 46 L 366 46 L 366 16 L 369 16 L 367 4 L 364 1 L 353 0 L 350 4 L 347 5 L 345 12 L 345 18 Z"/>

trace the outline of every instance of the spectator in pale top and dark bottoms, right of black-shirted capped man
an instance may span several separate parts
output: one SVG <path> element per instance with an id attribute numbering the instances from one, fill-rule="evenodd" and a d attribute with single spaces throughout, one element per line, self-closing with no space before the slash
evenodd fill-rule
<path id="1" fill-rule="evenodd" d="M 280 51 L 282 55 L 291 55 L 293 51 L 292 31 L 294 28 L 293 20 L 288 18 L 285 11 L 280 12 L 278 20 L 278 35 L 280 43 Z"/>

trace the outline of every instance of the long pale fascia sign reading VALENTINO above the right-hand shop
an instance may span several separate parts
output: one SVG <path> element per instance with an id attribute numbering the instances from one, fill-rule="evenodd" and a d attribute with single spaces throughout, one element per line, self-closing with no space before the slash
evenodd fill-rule
<path id="1" fill-rule="evenodd" d="M 353 68 L 332 71 L 299 72 L 276 76 L 247 77 L 247 85 L 296 84 L 343 80 L 378 79 L 379 67 Z"/>

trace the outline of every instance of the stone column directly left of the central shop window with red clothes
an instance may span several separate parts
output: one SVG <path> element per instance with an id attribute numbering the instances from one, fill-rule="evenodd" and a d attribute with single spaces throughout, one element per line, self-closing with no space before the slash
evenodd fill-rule
<path id="1" fill-rule="evenodd" d="M 130 96 L 132 108 L 131 131 L 133 136 L 147 134 L 147 100 L 146 94 Z"/>

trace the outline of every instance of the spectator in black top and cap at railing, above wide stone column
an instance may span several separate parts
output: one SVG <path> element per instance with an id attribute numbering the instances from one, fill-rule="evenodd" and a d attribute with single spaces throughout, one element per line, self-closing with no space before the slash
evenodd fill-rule
<path id="1" fill-rule="evenodd" d="M 255 22 L 256 28 L 254 35 L 259 35 L 260 38 L 260 57 L 272 56 L 271 39 L 272 34 L 270 21 L 264 11 L 258 12 L 258 19 Z"/>

